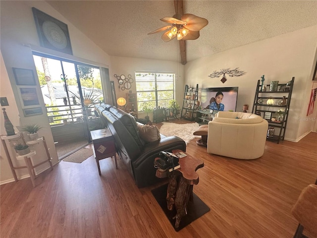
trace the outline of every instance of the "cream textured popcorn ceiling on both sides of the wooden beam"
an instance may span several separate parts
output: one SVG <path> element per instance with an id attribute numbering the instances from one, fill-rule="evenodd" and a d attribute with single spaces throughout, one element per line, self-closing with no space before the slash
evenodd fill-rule
<path id="1" fill-rule="evenodd" d="M 173 16 L 172 0 L 48 2 L 110 56 L 180 61 L 176 39 L 147 35 Z M 186 41 L 187 62 L 317 24 L 316 0 L 184 0 L 183 9 L 209 21 L 197 40 Z"/>

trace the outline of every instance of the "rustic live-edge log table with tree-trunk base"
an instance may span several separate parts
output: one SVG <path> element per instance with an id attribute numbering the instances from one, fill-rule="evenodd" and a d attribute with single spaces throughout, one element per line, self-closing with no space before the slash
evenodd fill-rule
<path id="1" fill-rule="evenodd" d="M 173 150 L 172 153 L 183 152 L 181 150 Z M 185 153 L 185 152 L 183 152 Z M 180 220 L 187 214 L 187 203 L 189 199 L 193 199 L 193 185 L 198 184 L 199 176 L 196 171 L 204 167 L 204 162 L 194 158 L 188 153 L 187 156 L 179 159 L 180 168 L 173 172 L 161 172 L 157 170 L 158 178 L 169 177 L 167 187 L 167 209 L 172 210 L 175 206 L 176 218 L 175 229 L 178 229 Z"/>

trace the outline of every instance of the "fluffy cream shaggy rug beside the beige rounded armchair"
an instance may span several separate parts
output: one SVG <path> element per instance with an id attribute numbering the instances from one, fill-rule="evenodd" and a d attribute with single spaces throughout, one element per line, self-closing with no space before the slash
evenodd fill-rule
<path id="1" fill-rule="evenodd" d="M 186 144 L 194 138 L 201 138 L 201 136 L 193 135 L 194 131 L 199 128 L 199 124 L 195 123 L 186 123 L 186 124 L 177 124 L 171 122 L 163 122 L 163 125 L 159 128 L 159 133 L 165 136 L 176 135 L 182 138 Z"/>

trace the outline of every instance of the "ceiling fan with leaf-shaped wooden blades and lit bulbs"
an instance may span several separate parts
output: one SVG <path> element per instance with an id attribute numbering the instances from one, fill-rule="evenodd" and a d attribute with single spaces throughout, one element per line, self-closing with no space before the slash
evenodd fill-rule
<path id="1" fill-rule="evenodd" d="M 182 15 L 180 20 L 174 17 L 163 17 L 160 20 L 172 25 L 163 26 L 148 35 L 168 30 L 161 37 L 164 42 L 171 41 L 175 37 L 177 40 L 196 40 L 200 36 L 199 31 L 208 25 L 207 19 L 190 13 Z"/>

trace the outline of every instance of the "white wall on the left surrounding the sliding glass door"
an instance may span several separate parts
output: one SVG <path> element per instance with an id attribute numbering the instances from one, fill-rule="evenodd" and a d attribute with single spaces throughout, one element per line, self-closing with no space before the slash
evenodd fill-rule
<path id="1" fill-rule="evenodd" d="M 32 13 L 33 6 L 68 25 L 73 56 L 40 47 Z M 51 7 L 46 1 L 1 1 L 0 10 L 0 47 L 1 55 L 4 61 L 3 64 L 1 57 L 1 97 L 7 97 L 9 100 L 10 106 L 6 107 L 8 116 L 15 126 L 27 123 L 38 123 L 44 125 L 46 129 L 41 130 L 40 135 L 45 136 L 48 147 L 51 148 L 50 154 L 53 158 L 53 163 L 57 163 L 58 157 L 55 150 L 49 121 L 45 113 L 46 108 L 44 106 L 42 94 L 38 93 L 40 106 L 44 112 L 43 115 L 27 118 L 24 117 L 12 67 L 32 69 L 34 72 L 36 72 L 32 50 L 104 67 L 107 67 L 107 65 L 110 64 L 109 56 L 100 48 L 98 48 L 89 38 L 78 31 L 78 29 L 70 24 L 62 15 L 55 11 L 53 7 Z M 38 92 L 41 92 L 39 83 L 37 83 L 36 89 Z M 1 134 L 5 134 L 2 120 L 3 116 L 1 116 L 0 129 Z M 40 155 L 35 156 L 35 161 L 40 159 Z M 13 176 L 8 166 L 7 158 L 3 153 L 3 148 L 1 148 L 0 168 L 1 183 L 12 181 Z M 48 166 L 43 165 L 38 167 L 36 171 L 39 172 L 45 170 L 46 168 L 48 168 Z M 28 176 L 26 169 L 19 170 L 17 174 L 18 178 L 24 178 Z"/>

